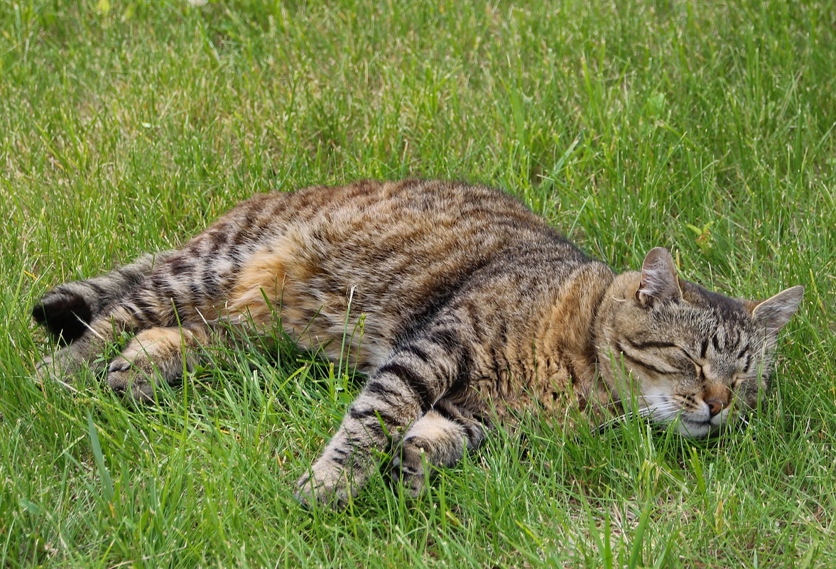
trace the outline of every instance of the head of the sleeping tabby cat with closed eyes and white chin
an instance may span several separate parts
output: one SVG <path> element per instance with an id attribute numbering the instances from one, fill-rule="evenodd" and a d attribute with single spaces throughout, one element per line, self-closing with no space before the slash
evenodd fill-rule
<path id="1" fill-rule="evenodd" d="M 656 247 L 641 272 L 615 277 L 599 307 L 599 369 L 624 409 L 703 437 L 767 388 L 778 331 L 803 287 L 762 302 L 726 297 L 676 274 Z"/>

